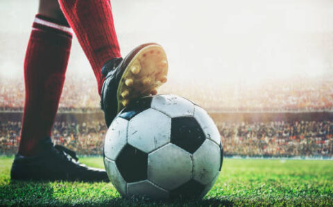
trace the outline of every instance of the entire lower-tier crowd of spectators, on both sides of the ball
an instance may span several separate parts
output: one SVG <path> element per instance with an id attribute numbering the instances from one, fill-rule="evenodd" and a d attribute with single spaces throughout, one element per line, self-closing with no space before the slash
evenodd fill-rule
<path id="1" fill-rule="evenodd" d="M 333 156 L 333 122 L 216 122 L 225 155 Z M 15 154 L 20 122 L 0 123 L 0 154 Z M 53 143 L 78 154 L 101 155 L 106 133 L 104 122 L 56 122 Z"/>

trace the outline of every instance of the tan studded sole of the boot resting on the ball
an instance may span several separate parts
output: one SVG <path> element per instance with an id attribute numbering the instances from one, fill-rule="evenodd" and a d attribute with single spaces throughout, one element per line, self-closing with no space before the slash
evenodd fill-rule
<path id="1" fill-rule="evenodd" d="M 119 81 L 118 113 L 133 99 L 157 94 L 160 85 L 167 82 L 167 73 L 167 55 L 160 45 L 149 44 L 140 49 L 128 63 Z"/>

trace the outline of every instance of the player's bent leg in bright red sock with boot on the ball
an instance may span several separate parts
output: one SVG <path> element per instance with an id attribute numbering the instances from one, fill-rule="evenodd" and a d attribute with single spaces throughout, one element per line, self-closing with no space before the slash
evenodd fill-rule
<path id="1" fill-rule="evenodd" d="M 59 2 L 94 70 L 108 126 L 130 100 L 156 94 L 167 81 L 167 56 L 160 45 L 142 44 L 121 58 L 109 0 Z"/>

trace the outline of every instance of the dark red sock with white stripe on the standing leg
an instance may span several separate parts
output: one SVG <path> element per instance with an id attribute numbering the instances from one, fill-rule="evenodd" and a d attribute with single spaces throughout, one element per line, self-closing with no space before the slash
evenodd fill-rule
<path id="1" fill-rule="evenodd" d="M 26 98 L 19 154 L 37 154 L 37 142 L 51 136 L 71 49 L 71 28 L 36 15 L 26 58 Z"/>

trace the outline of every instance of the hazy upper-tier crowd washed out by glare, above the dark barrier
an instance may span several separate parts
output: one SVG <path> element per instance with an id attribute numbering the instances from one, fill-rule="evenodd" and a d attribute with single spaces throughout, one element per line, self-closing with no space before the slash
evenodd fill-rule
<path id="1" fill-rule="evenodd" d="M 286 78 L 259 83 L 198 84 L 189 80 L 162 86 L 160 93 L 178 94 L 209 112 L 312 112 L 333 110 L 333 80 Z M 99 94 L 94 78 L 69 76 L 60 99 L 60 112 L 85 112 L 99 109 Z M 22 81 L 0 80 L 0 111 L 22 111 Z"/>

